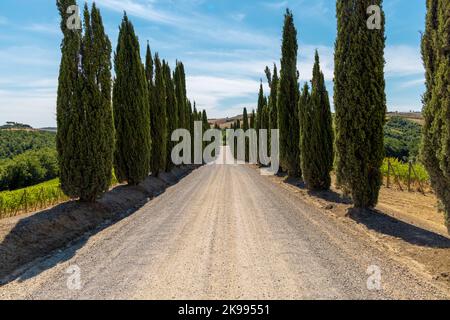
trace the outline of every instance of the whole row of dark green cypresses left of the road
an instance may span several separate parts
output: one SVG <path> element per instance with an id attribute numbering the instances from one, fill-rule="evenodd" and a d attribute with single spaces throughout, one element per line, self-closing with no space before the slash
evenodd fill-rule
<path id="1" fill-rule="evenodd" d="M 197 112 L 186 95 L 181 62 L 169 64 L 151 54 L 145 65 L 133 25 L 124 14 L 111 77 L 111 42 L 95 3 L 84 7 L 83 30 L 66 25 L 67 8 L 75 0 L 58 0 L 61 15 L 61 65 L 57 97 L 57 149 L 62 190 L 72 198 L 93 202 L 119 182 L 137 185 L 151 172 L 171 169 L 171 133 L 194 129 L 206 112 Z"/>

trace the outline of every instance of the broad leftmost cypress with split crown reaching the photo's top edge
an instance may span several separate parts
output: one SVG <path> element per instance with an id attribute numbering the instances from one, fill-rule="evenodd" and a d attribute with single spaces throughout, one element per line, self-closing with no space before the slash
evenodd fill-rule
<path id="1" fill-rule="evenodd" d="M 84 8 L 84 35 L 66 27 L 75 1 L 57 1 L 64 34 L 58 85 L 57 148 L 63 191 L 93 202 L 112 177 L 114 126 L 111 108 L 111 43 L 100 11 Z"/>

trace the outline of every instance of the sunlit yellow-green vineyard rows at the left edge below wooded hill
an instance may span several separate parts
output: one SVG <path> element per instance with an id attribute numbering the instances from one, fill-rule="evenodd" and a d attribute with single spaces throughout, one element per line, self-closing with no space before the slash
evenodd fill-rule
<path id="1" fill-rule="evenodd" d="M 59 187 L 59 179 L 24 189 L 0 192 L 0 218 L 45 209 L 68 199 Z"/>

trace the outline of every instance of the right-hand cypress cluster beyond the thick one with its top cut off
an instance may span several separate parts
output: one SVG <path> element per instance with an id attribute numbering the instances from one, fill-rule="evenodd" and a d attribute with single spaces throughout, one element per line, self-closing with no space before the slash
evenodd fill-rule
<path id="1" fill-rule="evenodd" d="M 290 10 L 284 17 L 281 72 L 266 67 L 270 94 L 258 94 L 256 129 L 279 129 L 280 164 L 289 176 L 303 176 L 310 189 L 330 187 L 333 166 L 332 116 L 325 79 L 316 52 L 312 92 L 308 84 L 299 88 L 297 30 Z M 302 152 L 301 152 L 302 151 Z"/>

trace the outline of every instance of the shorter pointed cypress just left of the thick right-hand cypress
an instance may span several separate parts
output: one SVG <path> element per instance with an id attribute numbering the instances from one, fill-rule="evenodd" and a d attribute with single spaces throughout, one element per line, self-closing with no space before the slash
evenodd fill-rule
<path id="1" fill-rule="evenodd" d="M 311 190 L 327 190 L 333 169 L 333 128 L 330 101 L 316 51 L 311 96 L 305 85 L 299 101 L 303 178 Z"/>

